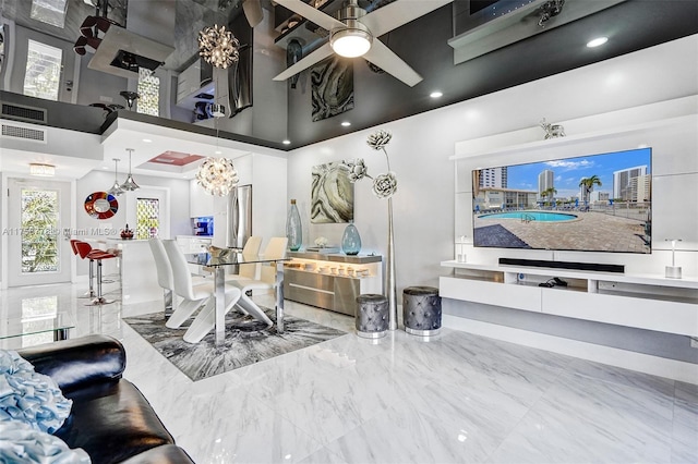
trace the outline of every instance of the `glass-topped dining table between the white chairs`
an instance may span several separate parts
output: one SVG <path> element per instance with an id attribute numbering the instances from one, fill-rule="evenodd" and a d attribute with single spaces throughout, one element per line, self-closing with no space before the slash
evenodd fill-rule
<path id="1" fill-rule="evenodd" d="M 276 331 L 284 332 L 284 261 L 291 258 L 265 257 L 263 255 L 243 255 L 239 248 L 220 248 L 215 253 L 186 254 L 186 262 L 191 265 L 209 268 L 214 273 L 214 301 L 216 323 L 214 327 L 216 344 L 224 342 L 226 338 L 226 273 L 238 273 L 240 265 L 273 266 L 274 288 L 276 302 L 274 309 L 276 313 Z M 253 305 L 256 305 L 252 302 Z M 257 309 L 263 313 L 262 308 Z"/>

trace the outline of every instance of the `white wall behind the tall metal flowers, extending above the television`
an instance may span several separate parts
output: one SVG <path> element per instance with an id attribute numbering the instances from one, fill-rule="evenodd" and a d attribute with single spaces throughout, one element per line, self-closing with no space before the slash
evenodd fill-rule
<path id="1" fill-rule="evenodd" d="M 393 133 L 387 151 L 399 180 L 394 197 L 398 294 L 409 285 L 436 286 L 446 273 L 438 262 L 453 259 L 454 161 L 448 157 L 456 143 L 534 127 L 542 118 L 573 120 L 696 95 L 697 62 L 698 36 L 690 36 L 376 127 Z M 383 155 L 365 145 L 372 132 L 289 154 L 288 196 L 298 198 L 304 245 L 318 235 L 339 243 L 344 231 L 342 224 L 310 224 L 312 167 L 362 157 L 369 173 L 385 172 Z M 354 223 L 364 251 L 385 255 L 386 203 L 372 195 L 369 180 L 354 185 Z"/>

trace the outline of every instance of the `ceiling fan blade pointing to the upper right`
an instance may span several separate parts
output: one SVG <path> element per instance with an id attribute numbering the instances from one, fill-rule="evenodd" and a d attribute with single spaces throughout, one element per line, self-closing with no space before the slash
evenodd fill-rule
<path id="1" fill-rule="evenodd" d="M 373 37 L 381 37 L 397 29 L 410 21 L 450 3 L 453 0 L 396 0 L 368 13 L 359 21 L 365 25 Z"/>

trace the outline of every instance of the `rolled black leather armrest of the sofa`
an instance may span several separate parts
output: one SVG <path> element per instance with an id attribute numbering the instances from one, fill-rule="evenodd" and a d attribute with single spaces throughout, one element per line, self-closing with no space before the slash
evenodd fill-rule
<path id="1" fill-rule="evenodd" d="M 37 373 L 51 377 L 63 392 L 121 378 L 127 353 L 121 342 L 107 335 L 79 339 L 19 350 Z"/>

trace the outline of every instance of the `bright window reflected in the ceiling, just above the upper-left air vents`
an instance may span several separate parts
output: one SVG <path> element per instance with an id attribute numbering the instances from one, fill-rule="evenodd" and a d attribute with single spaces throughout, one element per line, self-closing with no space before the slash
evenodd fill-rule
<path id="1" fill-rule="evenodd" d="M 62 59 L 63 51 L 60 48 L 29 39 L 24 74 L 24 95 L 58 100 Z"/>

